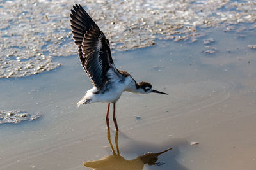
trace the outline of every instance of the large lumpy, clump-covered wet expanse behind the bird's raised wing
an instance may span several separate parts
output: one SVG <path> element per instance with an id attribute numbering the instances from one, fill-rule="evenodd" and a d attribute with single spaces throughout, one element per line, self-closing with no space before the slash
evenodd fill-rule
<path id="1" fill-rule="evenodd" d="M 112 52 L 152 46 L 158 38 L 193 42 L 200 28 L 256 20 L 253 1 L 0 1 L 0 78 L 50 71 L 61 66 L 56 58 L 76 55 L 69 23 L 74 3 L 93 17 Z"/>

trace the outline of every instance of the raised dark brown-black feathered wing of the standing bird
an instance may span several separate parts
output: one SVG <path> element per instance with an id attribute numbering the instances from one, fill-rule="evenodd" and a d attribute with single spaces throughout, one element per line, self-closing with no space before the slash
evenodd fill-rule
<path id="1" fill-rule="evenodd" d="M 101 90 L 108 81 L 109 68 L 115 67 L 109 41 L 80 4 L 73 8 L 70 24 L 81 64 L 93 85 Z"/>

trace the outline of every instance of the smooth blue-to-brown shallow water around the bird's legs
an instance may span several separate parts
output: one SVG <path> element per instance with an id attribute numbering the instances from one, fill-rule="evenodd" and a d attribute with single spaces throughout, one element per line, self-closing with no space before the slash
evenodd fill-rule
<path id="1" fill-rule="evenodd" d="M 116 67 L 169 94 L 124 93 L 116 104 L 118 145 L 126 160 L 173 148 L 159 155 L 158 166 L 144 169 L 255 168 L 256 51 L 248 45 L 256 44 L 256 34 L 248 29 L 253 24 L 234 27 L 202 30 L 205 36 L 195 43 L 162 40 L 113 54 Z M 214 42 L 204 45 L 209 38 Z M 204 53 L 205 46 L 215 53 Z M 77 108 L 92 84 L 76 55 L 54 61 L 62 66 L 0 80 L 1 108 L 41 114 L 0 124 L 0 169 L 89 169 L 83 162 L 112 155 L 107 104 Z M 115 146 L 112 121 L 110 126 Z"/>

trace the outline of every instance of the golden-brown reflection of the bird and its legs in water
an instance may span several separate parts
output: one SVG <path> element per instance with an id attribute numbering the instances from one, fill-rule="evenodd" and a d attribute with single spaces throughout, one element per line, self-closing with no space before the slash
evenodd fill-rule
<path id="1" fill-rule="evenodd" d="M 150 166 L 157 164 L 156 161 L 158 159 L 158 156 L 172 149 L 172 148 L 169 148 L 159 153 L 145 153 L 144 155 L 136 157 L 136 159 L 126 160 L 124 157 L 122 157 L 122 155 L 120 155 L 120 151 L 118 147 L 118 131 L 116 131 L 116 134 L 115 134 L 116 152 L 111 142 L 109 129 L 108 129 L 108 141 L 109 141 L 111 150 L 113 152 L 113 155 L 108 155 L 106 157 L 103 157 L 100 160 L 84 162 L 84 166 L 90 167 L 95 170 L 100 170 L 100 169 L 102 170 L 103 169 L 108 169 L 108 170 L 109 169 L 111 170 L 115 170 L 115 169 L 137 170 L 138 169 L 139 170 L 139 169 L 143 169 L 145 164 L 148 164 Z"/>

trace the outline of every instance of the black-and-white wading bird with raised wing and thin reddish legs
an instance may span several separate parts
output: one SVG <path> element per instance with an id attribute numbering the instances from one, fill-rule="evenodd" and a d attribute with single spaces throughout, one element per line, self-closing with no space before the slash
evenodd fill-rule
<path id="1" fill-rule="evenodd" d="M 124 91 L 139 94 L 167 93 L 152 89 L 148 82 L 137 83 L 129 73 L 117 69 L 111 56 L 109 40 L 90 15 L 81 4 L 74 4 L 70 11 L 72 38 L 78 48 L 81 65 L 93 84 L 93 88 L 86 92 L 77 106 L 95 102 L 108 103 L 106 124 L 109 129 L 109 106 L 113 103 L 113 122 L 118 130 L 116 102 Z"/>

